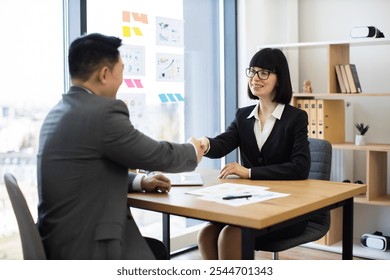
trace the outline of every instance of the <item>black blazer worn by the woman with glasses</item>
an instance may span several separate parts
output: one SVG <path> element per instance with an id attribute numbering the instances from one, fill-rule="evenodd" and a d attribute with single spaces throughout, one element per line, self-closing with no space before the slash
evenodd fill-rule
<path id="1" fill-rule="evenodd" d="M 205 156 L 220 158 L 239 148 L 241 164 L 251 168 L 252 180 L 307 179 L 310 169 L 307 113 L 286 105 L 259 151 L 253 130 L 255 118 L 248 119 L 254 107 L 238 109 L 226 131 L 209 138 L 210 150 Z"/>

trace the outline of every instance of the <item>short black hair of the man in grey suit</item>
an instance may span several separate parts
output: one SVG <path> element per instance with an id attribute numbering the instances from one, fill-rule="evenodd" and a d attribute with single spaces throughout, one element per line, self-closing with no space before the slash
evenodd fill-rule
<path id="1" fill-rule="evenodd" d="M 99 67 L 112 67 L 119 61 L 122 40 L 92 33 L 77 38 L 69 47 L 68 63 L 71 78 L 86 81 Z"/>

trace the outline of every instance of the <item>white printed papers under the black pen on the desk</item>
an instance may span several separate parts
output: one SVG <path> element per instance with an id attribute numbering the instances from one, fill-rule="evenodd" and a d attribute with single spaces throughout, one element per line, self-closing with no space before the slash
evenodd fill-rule
<path id="1" fill-rule="evenodd" d="M 289 194 L 267 191 L 268 187 L 251 186 L 243 184 L 224 183 L 211 187 L 200 188 L 187 192 L 188 194 L 199 195 L 199 199 L 214 201 L 230 206 L 242 206 L 278 197 L 285 197 Z M 225 200 L 225 196 L 251 195 L 249 198 L 238 198 Z"/>

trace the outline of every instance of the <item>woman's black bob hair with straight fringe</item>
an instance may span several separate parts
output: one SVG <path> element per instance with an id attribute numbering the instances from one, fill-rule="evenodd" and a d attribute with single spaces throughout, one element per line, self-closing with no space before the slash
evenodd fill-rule
<path id="1" fill-rule="evenodd" d="M 292 98 L 292 86 L 287 59 L 279 49 L 265 48 L 258 51 L 251 59 L 249 67 L 259 67 L 272 71 L 278 76 L 278 86 L 274 102 L 289 104 Z M 250 99 L 259 99 L 253 95 L 248 84 Z"/>

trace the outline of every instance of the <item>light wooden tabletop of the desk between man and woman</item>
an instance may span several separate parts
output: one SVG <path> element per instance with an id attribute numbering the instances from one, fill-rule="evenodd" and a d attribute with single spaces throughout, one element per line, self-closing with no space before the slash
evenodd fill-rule
<path id="1" fill-rule="evenodd" d="M 131 193 L 131 207 L 178 216 L 222 222 L 242 227 L 263 229 L 279 222 L 318 210 L 366 192 L 366 185 L 321 180 L 252 181 L 218 179 L 218 170 L 197 170 L 204 187 L 221 183 L 238 183 L 269 187 L 270 191 L 288 193 L 287 197 L 266 200 L 245 206 L 229 206 L 198 199 L 186 194 L 197 187 L 172 187 L 168 194 Z"/>

